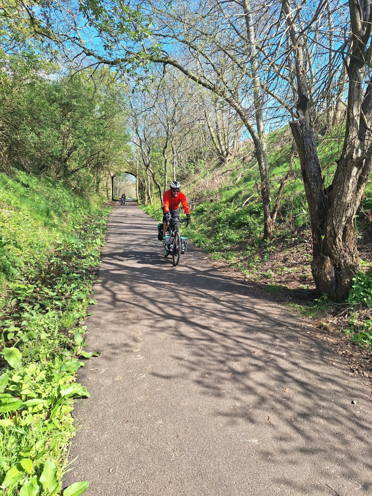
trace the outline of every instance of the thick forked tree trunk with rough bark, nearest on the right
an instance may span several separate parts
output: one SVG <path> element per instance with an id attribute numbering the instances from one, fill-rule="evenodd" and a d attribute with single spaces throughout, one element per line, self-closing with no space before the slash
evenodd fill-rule
<path id="1" fill-rule="evenodd" d="M 353 48 L 347 67 L 346 134 L 332 185 L 324 188 L 310 120 L 301 40 L 297 36 L 289 0 L 283 0 L 283 10 L 291 33 L 299 92 L 299 121 L 290 123 L 290 126 L 299 150 L 310 210 L 313 243 L 311 271 L 318 291 L 341 302 L 348 297 L 353 276 L 361 269 L 354 220 L 372 168 L 372 80 L 363 97 L 364 55 L 371 34 L 370 13 L 362 9 L 359 1 L 350 0 Z M 363 14 L 368 14 L 367 19 L 363 19 Z"/>

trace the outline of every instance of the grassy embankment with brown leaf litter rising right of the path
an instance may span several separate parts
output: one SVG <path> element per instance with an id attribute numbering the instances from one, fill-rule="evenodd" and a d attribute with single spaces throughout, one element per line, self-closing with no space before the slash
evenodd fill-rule
<path id="1" fill-rule="evenodd" d="M 319 138 L 318 152 L 326 185 L 332 180 L 334 161 L 340 155 L 342 144 L 342 136 Z M 268 135 L 273 204 L 290 166 L 292 146 L 288 128 Z M 251 157 L 251 160 L 246 161 L 245 157 Z M 326 298 L 316 296 L 314 291 L 310 271 L 310 217 L 298 159 L 294 156 L 283 189 L 273 243 L 262 241 L 262 203 L 257 184 L 259 175 L 249 143 L 236 162 L 208 172 L 204 170 L 193 177 L 183 187 L 192 209 L 191 227 L 185 235 L 209 253 L 211 259 L 221 260 L 242 272 L 247 281 L 255 281 L 277 296 L 285 294 L 286 300 L 293 300 L 292 308 L 309 316 L 323 317 L 333 305 Z M 367 186 L 362 207 L 364 210 L 372 207 L 371 184 Z M 161 219 L 159 203 L 142 208 L 152 217 Z M 362 234 L 365 217 L 361 212 L 358 219 Z M 360 233 L 358 236 L 362 237 Z M 370 262 L 362 260 L 362 265 L 367 268 Z M 351 315 L 353 310 L 349 313 Z M 358 320 L 355 312 L 351 318 Z M 363 332 L 366 331 L 365 321 L 359 322 L 364 326 Z M 361 330 L 359 324 L 348 327 L 352 340 L 359 339 L 354 336 Z M 371 346 L 371 326 L 367 332 L 370 332 L 368 342 Z"/>

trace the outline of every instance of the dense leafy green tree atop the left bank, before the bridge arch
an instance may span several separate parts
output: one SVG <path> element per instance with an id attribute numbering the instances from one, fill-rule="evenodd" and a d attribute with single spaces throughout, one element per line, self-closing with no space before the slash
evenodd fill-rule
<path id="1" fill-rule="evenodd" d="M 103 171 L 122 165 L 128 140 L 113 97 L 115 78 L 103 68 L 56 79 L 53 68 L 36 56 L 30 63 L 30 57 L 3 55 L 1 168 L 98 189 Z"/>

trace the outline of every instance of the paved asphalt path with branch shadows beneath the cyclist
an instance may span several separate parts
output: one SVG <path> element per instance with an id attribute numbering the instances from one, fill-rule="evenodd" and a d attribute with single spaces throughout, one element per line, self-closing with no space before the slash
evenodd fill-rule
<path id="1" fill-rule="evenodd" d="M 109 220 L 65 483 L 84 495 L 371 495 L 368 383 L 306 320 L 190 248 L 173 267 L 135 204 Z M 332 365 L 332 363 L 334 365 Z M 352 400 L 356 404 L 352 404 Z"/>

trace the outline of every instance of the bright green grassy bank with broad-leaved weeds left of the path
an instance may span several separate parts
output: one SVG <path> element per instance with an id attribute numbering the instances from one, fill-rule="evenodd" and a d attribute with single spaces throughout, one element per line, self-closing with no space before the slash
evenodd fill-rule
<path id="1" fill-rule="evenodd" d="M 0 486 L 60 495 L 84 319 L 110 209 L 48 179 L 0 175 Z M 75 483 L 64 496 L 80 495 Z"/>

